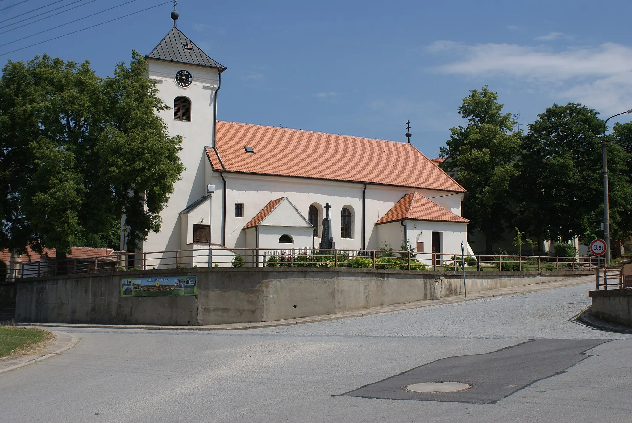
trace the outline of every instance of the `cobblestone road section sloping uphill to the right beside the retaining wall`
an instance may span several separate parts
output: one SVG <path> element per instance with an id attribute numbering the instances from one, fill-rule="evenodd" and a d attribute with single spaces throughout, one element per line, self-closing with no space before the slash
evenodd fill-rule
<path id="1" fill-rule="evenodd" d="M 590 305 L 594 284 L 506 297 L 480 298 L 353 319 L 252 329 L 257 334 L 441 336 L 466 338 L 631 338 L 572 320 Z"/>

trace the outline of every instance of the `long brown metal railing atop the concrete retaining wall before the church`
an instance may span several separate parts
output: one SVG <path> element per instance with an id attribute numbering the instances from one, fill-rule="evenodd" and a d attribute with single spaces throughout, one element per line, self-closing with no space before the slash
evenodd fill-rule
<path id="1" fill-rule="evenodd" d="M 179 269 L 190 267 L 356 267 L 434 271 L 540 271 L 599 267 L 597 257 L 549 257 L 540 255 L 465 255 L 392 251 L 322 250 L 315 248 L 202 248 L 158 252 L 115 252 L 110 255 L 66 261 L 25 262 L 20 276 L 103 271 Z M 463 266 L 465 262 L 465 266 Z"/>

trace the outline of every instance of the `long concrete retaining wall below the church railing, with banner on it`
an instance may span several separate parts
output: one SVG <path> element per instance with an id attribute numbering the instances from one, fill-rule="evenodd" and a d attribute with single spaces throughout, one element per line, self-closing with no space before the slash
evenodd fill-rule
<path id="1" fill-rule="evenodd" d="M 531 285 L 582 271 L 466 274 L 468 293 Z M 197 276 L 197 297 L 120 297 L 121 278 Z M 452 272 L 234 267 L 160 269 L 18 281 L 16 321 L 223 324 L 317 316 L 463 293 Z"/>

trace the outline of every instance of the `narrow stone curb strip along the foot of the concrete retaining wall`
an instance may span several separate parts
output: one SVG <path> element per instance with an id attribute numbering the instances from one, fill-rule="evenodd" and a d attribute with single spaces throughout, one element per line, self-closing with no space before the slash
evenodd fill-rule
<path id="1" fill-rule="evenodd" d="M 18 326 L 33 326 L 42 328 L 85 328 L 85 329 L 150 329 L 169 331 L 238 331 L 244 329 L 276 328 L 278 326 L 289 326 L 292 324 L 315 323 L 330 320 L 348 319 L 349 317 L 370 316 L 372 314 L 389 313 L 401 310 L 419 309 L 432 305 L 455 304 L 480 298 L 500 297 L 504 295 L 516 295 L 535 291 L 552 290 L 563 288 L 564 286 L 583 285 L 594 280 L 594 276 L 580 276 L 578 278 L 565 278 L 557 281 L 540 282 L 532 285 L 515 286 L 511 288 L 499 288 L 497 290 L 481 291 L 468 295 L 455 295 L 454 297 L 439 298 L 437 300 L 420 300 L 410 303 L 382 305 L 370 309 L 354 310 L 336 314 L 321 316 L 300 317 L 298 319 L 277 320 L 271 322 L 252 323 L 231 323 L 215 324 L 208 326 L 168 326 L 168 325 L 145 325 L 145 324 L 81 324 L 81 323 L 16 323 Z"/>

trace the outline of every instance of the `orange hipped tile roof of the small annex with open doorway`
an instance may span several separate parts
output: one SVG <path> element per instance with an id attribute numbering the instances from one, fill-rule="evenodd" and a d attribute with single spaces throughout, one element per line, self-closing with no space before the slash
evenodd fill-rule
<path id="1" fill-rule="evenodd" d="M 382 216 L 382 219 L 375 222 L 375 224 L 396 222 L 406 219 L 439 222 L 469 222 L 468 219 L 461 218 L 461 216 L 444 209 L 441 205 L 428 200 L 420 193 L 410 192 L 404 195 L 404 197 L 401 197 L 401 200 L 392 206 L 391 210 Z"/>

